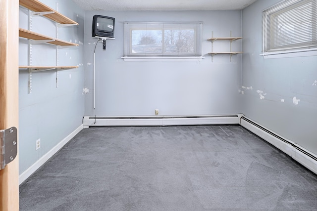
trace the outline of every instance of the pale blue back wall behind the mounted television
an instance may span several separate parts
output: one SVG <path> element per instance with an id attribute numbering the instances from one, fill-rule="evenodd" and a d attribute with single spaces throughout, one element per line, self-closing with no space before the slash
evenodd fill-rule
<path id="1" fill-rule="evenodd" d="M 96 49 L 96 110 L 93 109 L 93 51 L 97 39 L 91 36 L 95 14 L 116 18 L 115 40 L 103 51 Z M 125 21 L 203 21 L 201 62 L 125 62 L 123 23 Z M 85 11 L 85 96 L 86 116 L 151 116 L 237 114 L 241 86 L 241 55 L 215 55 L 211 51 L 211 31 L 215 37 L 241 36 L 241 11 Z M 230 42 L 215 42 L 214 50 L 229 51 Z M 241 50 L 241 41 L 232 45 Z"/>

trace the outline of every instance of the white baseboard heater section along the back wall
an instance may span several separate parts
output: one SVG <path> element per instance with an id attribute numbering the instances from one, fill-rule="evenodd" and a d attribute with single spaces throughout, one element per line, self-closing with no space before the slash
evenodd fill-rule
<path id="1" fill-rule="evenodd" d="M 239 115 L 215 116 L 147 116 L 147 117 L 90 117 L 85 116 L 84 128 L 94 126 L 178 126 L 239 124 Z"/>

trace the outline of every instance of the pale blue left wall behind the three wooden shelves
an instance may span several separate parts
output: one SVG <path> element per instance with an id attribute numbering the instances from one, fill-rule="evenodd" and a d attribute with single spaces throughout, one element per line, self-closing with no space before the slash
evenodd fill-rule
<path id="1" fill-rule="evenodd" d="M 84 10 L 71 0 L 41 2 L 79 23 L 59 28 L 58 38 L 79 44 L 59 50 L 58 65 L 76 66 L 59 72 L 55 87 L 55 71 L 32 74 L 32 93 L 28 93 L 28 72 L 19 71 L 19 172 L 22 173 L 49 152 L 57 143 L 82 125 L 84 116 Z M 20 7 L 19 27 L 28 29 L 28 12 Z M 55 23 L 47 18 L 32 17 L 32 31 L 55 37 Z M 55 45 L 32 45 L 32 65 L 55 65 Z M 27 40 L 19 38 L 19 65 L 27 65 Z M 41 148 L 35 150 L 41 138 Z"/>

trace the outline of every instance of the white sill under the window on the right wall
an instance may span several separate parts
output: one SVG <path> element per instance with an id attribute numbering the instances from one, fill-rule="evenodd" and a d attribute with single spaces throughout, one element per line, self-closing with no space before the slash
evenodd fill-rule
<path id="1" fill-rule="evenodd" d="M 265 52 L 265 53 L 260 54 L 260 56 L 263 56 L 264 59 L 301 57 L 301 56 L 317 56 L 317 48 Z"/>

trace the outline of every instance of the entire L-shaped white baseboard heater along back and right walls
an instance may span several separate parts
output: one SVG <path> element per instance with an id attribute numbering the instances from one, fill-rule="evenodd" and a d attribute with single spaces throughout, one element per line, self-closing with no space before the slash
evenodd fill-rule
<path id="1" fill-rule="evenodd" d="M 93 117 L 85 116 L 84 128 L 102 126 L 181 126 L 181 125 L 241 125 L 268 143 L 280 149 L 294 160 L 317 174 L 317 155 L 299 144 L 254 122 L 243 114 L 212 116 L 140 116 Z"/>

